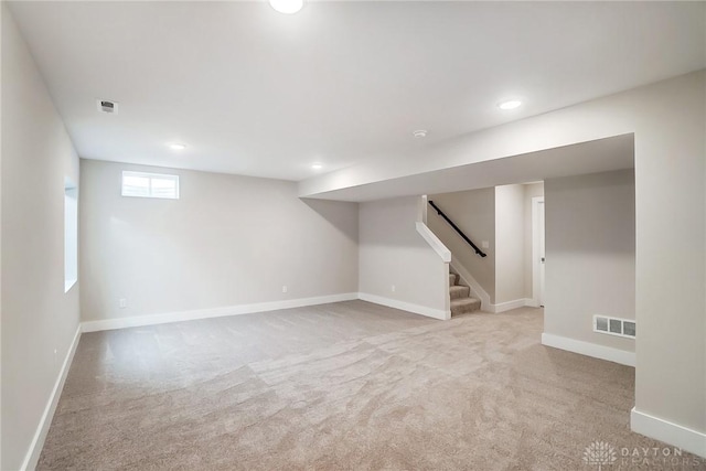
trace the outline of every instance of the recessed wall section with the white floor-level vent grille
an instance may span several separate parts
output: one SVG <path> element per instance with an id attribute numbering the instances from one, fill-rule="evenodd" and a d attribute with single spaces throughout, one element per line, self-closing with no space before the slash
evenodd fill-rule
<path id="1" fill-rule="evenodd" d="M 544 188 L 545 333 L 634 352 L 634 340 L 592 331 L 593 314 L 635 319 L 634 172 L 547 180 Z"/>

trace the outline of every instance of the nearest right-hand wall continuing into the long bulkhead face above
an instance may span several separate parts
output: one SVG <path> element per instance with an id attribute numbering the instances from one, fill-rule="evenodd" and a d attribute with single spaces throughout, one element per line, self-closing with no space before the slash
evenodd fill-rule
<path id="1" fill-rule="evenodd" d="M 449 169 L 632 133 L 639 324 L 635 410 L 646 417 L 633 421 L 633 428 L 706 456 L 705 101 L 706 72 L 700 71 L 427 146 L 417 154 L 371 160 L 301 182 L 300 194 L 349 188 L 377 189 L 379 194 L 379 186 L 386 185 L 395 189 L 385 192 L 391 197 L 425 194 L 448 178 Z M 415 176 L 406 180 L 407 175 Z"/>

